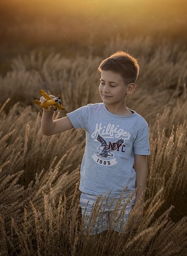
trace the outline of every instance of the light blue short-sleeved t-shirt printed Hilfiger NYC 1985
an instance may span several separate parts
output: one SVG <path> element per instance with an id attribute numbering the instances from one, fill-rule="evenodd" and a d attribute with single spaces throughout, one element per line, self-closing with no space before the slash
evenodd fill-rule
<path id="1" fill-rule="evenodd" d="M 79 189 L 91 195 L 118 197 L 128 186 L 136 187 L 135 154 L 150 155 L 149 129 L 145 119 L 112 114 L 104 103 L 88 104 L 67 114 L 75 129 L 86 131 Z"/>

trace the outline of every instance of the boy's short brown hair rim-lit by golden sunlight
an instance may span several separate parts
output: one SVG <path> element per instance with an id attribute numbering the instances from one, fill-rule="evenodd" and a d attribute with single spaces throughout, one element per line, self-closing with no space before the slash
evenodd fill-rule
<path id="1" fill-rule="evenodd" d="M 139 64 L 137 59 L 132 57 L 130 54 L 118 51 L 112 54 L 109 58 L 101 61 L 98 70 L 110 70 L 118 73 L 123 78 L 126 84 L 136 82 L 139 74 Z"/>

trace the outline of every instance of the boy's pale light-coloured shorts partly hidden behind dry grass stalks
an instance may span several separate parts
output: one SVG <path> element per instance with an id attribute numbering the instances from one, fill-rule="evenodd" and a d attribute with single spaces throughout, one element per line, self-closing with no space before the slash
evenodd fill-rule
<path id="1" fill-rule="evenodd" d="M 119 198 L 97 197 L 82 193 L 80 198 L 82 209 L 83 233 L 98 234 L 104 230 L 116 230 L 126 233 L 125 224 L 135 204 L 136 195 Z"/>

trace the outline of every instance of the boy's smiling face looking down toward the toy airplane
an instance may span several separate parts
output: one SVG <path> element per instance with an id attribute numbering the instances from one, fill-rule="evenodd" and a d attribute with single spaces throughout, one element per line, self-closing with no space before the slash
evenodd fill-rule
<path id="1" fill-rule="evenodd" d="M 124 105 L 127 86 L 121 75 L 111 70 L 102 70 L 99 84 L 99 94 L 106 105 Z"/>

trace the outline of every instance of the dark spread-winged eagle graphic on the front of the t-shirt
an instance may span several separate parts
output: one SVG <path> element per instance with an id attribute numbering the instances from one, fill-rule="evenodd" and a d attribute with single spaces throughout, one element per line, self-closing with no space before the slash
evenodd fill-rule
<path id="1" fill-rule="evenodd" d="M 118 139 L 116 142 L 107 142 L 98 134 L 97 140 L 100 142 L 100 146 L 98 146 L 97 150 L 99 151 L 97 156 L 101 158 L 114 157 L 112 152 L 118 150 L 119 146 L 124 143 L 124 139 Z"/>

